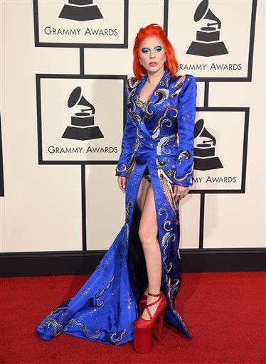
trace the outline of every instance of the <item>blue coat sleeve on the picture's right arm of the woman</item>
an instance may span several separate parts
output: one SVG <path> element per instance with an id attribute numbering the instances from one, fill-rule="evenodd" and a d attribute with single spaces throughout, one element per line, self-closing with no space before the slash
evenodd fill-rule
<path id="1" fill-rule="evenodd" d="M 196 114 L 197 84 L 193 75 L 186 75 L 177 105 L 178 157 L 174 183 L 179 186 L 193 185 L 193 146 Z"/>

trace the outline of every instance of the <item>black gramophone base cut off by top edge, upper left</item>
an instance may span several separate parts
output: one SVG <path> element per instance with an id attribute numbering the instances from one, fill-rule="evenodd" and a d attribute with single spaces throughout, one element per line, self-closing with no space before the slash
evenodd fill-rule
<path id="1" fill-rule="evenodd" d="M 68 5 L 63 6 L 58 18 L 69 20 L 95 20 L 102 19 L 102 13 L 97 5 L 92 5 L 92 0 L 68 0 Z"/>

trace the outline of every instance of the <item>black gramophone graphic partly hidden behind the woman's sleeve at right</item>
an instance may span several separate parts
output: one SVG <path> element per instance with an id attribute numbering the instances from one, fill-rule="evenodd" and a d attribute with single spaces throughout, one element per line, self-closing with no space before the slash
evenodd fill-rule
<path id="1" fill-rule="evenodd" d="M 218 156 L 215 156 L 216 138 L 204 127 L 204 120 L 199 119 L 195 124 L 194 138 L 201 138 L 201 143 L 194 146 L 194 169 L 208 171 L 223 168 Z"/>

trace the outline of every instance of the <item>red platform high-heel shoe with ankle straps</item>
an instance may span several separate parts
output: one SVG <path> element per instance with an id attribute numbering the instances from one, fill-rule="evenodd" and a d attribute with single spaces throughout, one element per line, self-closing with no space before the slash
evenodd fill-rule
<path id="1" fill-rule="evenodd" d="M 151 294 L 148 292 L 148 294 L 149 296 L 159 297 L 159 299 L 151 302 L 151 304 L 146 304 L 144 307 L 144 309 L 147 309 L 150 320 L 142 319 L 142 317 L 139 316 L 137 320 L 134 321 L 134 349 L 141 354 L 146 354 L 151 351 L 152 334 L 154 332 L 157 319 L 159 321 L 158 343 L 161 345 L 164 329 L 164 316 L 167 308 L 167 300 L 163 292 L 160 292 L 159 294 Z M 154 313 L 154 316 L 151 316 L 149 306 L 153 306 L 159 301 L 160 303 Z"/>

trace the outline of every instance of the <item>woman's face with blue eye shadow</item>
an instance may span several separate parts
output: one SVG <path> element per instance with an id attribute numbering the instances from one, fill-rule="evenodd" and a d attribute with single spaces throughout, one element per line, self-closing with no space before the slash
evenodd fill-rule
<path id="1" fill-rule="evenodd" d="M 159 38 L 145 38 L 139 48 L 139 61 L 147 72 L 154 73 L 164 66 L 166 51 Z"/>

